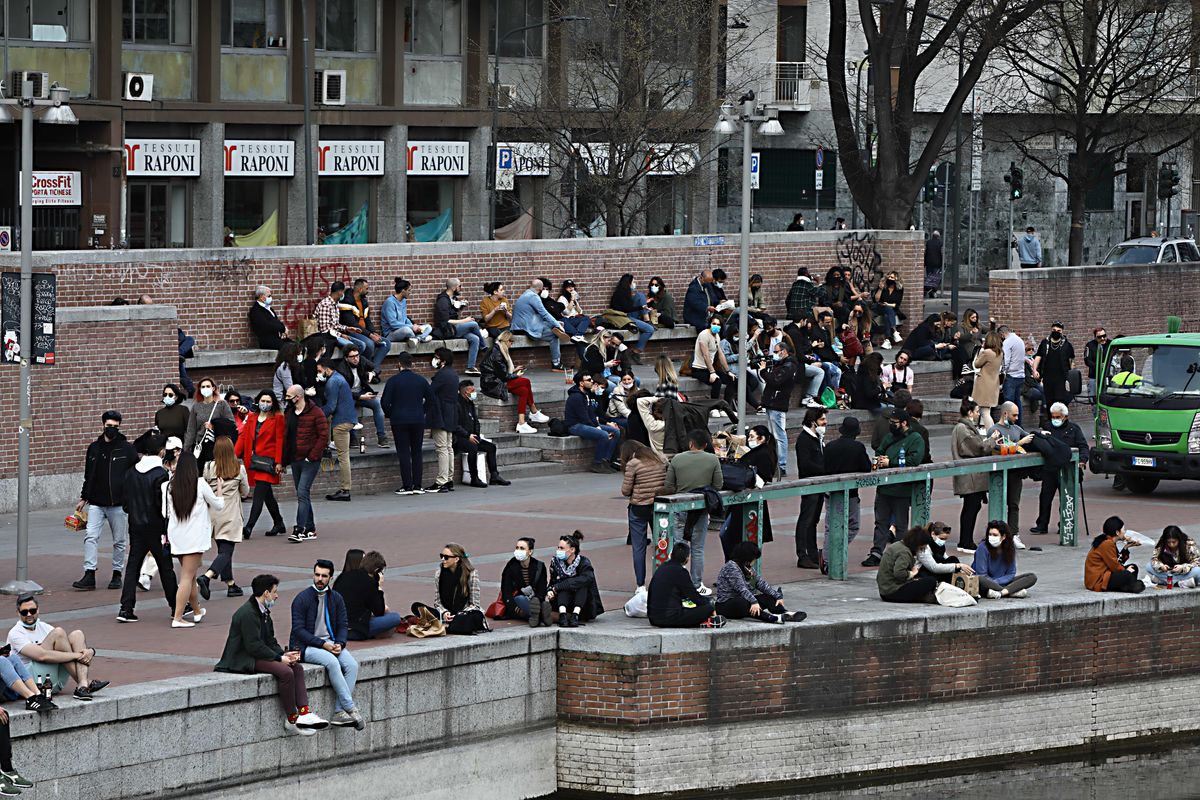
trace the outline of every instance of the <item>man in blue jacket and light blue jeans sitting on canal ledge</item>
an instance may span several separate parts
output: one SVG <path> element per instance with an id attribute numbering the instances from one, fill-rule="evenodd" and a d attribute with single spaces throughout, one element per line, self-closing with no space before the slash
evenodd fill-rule
<path id="1" fill-rule="evenodd" d="M 354 681 L 359 662 L 346 649 L 349 618 L 342 596 L 329 588 L 334 563 L 319 559 L 312 567 L 312 585 L 292 601 L 292 636 L 288 649 L 307 664 L 320 664 L 337 696 L 330 724 L 362 730 L 365 723 L 354 704 Z"/>

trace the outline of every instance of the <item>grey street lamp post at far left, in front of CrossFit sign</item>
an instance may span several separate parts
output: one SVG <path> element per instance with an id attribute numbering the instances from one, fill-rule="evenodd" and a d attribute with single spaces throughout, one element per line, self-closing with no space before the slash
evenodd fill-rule
<path id="1" fill-rule="evenodd" d="M 34 429 L 30 409 L 30 363 L 34 355 L 34 108 L 48 107 L 43 122 L 76 125 L 67 104 L 71 92 L 55 84 L 49 100 L 34 98 L 34 84 L 22 82 L 20 98 L 0 101 L 0 122 L 11 122 L 7 107 L 20 106 L 20 387 L 17 427 L 17 578 L 0 587 L 6 595 L 41 594 L 29 579 L 29 445 Z"/>

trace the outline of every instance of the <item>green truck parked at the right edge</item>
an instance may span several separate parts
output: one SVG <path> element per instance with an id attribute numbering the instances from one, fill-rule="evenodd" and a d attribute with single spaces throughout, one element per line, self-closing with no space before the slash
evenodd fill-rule
<path id="1" fill-rule="evenodd" d="M 1120 337 L 1098 367 L 1091 470 L 1134 494 L 1200 480 L 1200 333 Z"/>

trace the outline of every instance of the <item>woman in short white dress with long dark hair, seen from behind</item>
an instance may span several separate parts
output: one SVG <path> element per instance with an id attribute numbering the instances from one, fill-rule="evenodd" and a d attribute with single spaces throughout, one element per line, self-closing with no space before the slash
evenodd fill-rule
<path id="1" fill-rule="evenodd" d="M 221 498 L 224 481 L 217 479 L 216 493 L 200 479 L 196 457 L 187 450 L 175 459 L 175 471 L 162 485 L 162 515 L 167 518 L 167 539 L 170 554 L 179 559 L 179 591 L 175 595 L 175 616 L 172 627 L 192 627 L 204 619 L 196 573 L 200 559 L 212 547 L 212 519 L 209 509 L 224 509 Z M 192 604 L 192 621 L 184 621 L 184 609 Z"/>

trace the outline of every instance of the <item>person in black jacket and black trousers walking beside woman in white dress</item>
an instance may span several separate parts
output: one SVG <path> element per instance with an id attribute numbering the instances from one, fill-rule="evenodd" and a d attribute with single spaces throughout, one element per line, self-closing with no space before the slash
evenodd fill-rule
<path id="1" fill-rule="evenodd" d="M 149 553 L 158 565 L 158 579 L 167 606 L 175 612 L 175 569 L 170 555 L 163 549 L 167 536 L 167 519 L 162 516 L 162 485 L 167 482 L 167 470 L 162 465 L 163 435 L 146 431 L 138 437 L 134 446 L 140 459 L 125 479 L 125 513 L 130 521 L 130 569 L 125 571 L 121 587 L 121 609 L 118 622 L 137 622 L 133 613 L 137 604 L 138 569 Z"/>

